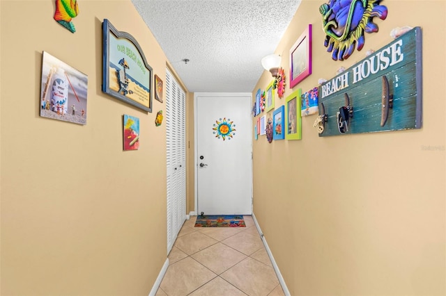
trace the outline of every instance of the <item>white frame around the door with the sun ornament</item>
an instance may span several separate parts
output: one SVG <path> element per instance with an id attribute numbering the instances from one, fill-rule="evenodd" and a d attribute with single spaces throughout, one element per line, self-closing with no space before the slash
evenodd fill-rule
<path id="1" fill-rule="evenodd" d="M 194 212 L 190 215 L 199 215 L 197 213 L 198 205 L 198 137 L 197 137 L 197 97 L 250 97 L 252 98 L 251 92 L 194 92 Z M 251 132 L 252 132 L 252 121 L 251 121 Z M 251 136 L 251 155 L 252 155 L 252 136 Z M 252 157 L 251 157 L 252 160 Z M 252 161 L 251 161 L 251 171 L 252 171 Z M 251 180 L 252 181 L 252 180 Z M 251 182 L 251 213 L 253 208 L 253 184 Z"/>

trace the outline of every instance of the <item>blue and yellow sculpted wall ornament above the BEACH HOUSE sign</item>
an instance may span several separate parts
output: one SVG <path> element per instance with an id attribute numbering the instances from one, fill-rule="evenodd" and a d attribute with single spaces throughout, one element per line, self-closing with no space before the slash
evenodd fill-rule
<path id="1" fill-rule="evenodd" d="M 378 5 L 382 0 L 330 0 L 319 8 L 325 32 L 324 46 L 333 60 L 346 60 L 355 50 L 364 47 L 364 31 L 378 32 L 373 18 L 387 17 L 387 8 Z"/>

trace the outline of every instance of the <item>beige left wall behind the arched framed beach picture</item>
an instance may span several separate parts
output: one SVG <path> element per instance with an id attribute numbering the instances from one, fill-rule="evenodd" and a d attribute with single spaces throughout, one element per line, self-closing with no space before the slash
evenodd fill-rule
<path id="1" fill-rule="evenodd" d="M 165 124 L 101 91 L 102 21 L 166 57 L 130 1 L 79 1 L 72 34 L 54 1 L 0 1 L 1 295 L 148 295 L 167 258 Z M 39 116 L 42 52 L 89 76 L 85 126 Z M 139 117 L 139 151 L 122 116 Z"/>

